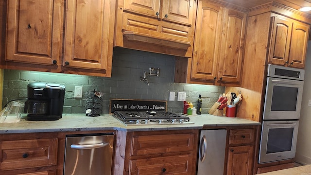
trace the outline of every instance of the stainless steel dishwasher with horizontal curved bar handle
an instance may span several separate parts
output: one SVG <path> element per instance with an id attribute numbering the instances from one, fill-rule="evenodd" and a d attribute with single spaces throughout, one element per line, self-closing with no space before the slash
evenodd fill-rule
<path id="1" fill-rule="evenodd" d="M 68 135 L 64 175 L 111 175 L 113 133 Z"/>

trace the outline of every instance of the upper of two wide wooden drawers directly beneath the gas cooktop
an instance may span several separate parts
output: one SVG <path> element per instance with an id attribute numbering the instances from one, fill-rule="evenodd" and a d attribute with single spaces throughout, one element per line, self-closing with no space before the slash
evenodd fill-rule
<path id="1" fill-rule="evenodd" d="M 195 134 L 133 136 L 131 156 L 192 151 Z"/>

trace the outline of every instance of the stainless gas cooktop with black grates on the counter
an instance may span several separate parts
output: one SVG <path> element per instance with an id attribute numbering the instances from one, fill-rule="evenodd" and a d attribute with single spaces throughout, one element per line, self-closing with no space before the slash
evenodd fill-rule
<path id="1" fill-rule="evenodd" d="M 125 125 L 193 124 L 187 116 L 165 111 L 115 111 L 112 116 Z"/>

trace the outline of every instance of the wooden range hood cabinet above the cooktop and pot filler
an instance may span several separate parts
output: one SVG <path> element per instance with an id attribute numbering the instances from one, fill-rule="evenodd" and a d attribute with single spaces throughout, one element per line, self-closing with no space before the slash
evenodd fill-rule
<path id="1" fill-rule="evenodd" d="M 114 46 L 192 56 L 196 0 L 118 0 Z"/>

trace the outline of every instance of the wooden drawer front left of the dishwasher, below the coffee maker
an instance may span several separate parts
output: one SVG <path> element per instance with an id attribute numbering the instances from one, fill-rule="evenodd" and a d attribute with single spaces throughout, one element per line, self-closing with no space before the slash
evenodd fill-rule
<path id="1" fill-rule="evenodd" d="M 0 170 L 56 165 L 57 138 L 0 142 Z"/>

